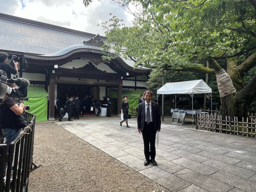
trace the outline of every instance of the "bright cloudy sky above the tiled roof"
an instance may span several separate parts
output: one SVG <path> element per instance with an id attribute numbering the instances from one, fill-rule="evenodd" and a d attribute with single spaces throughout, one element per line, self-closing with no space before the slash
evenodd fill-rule
<path id="1" fill-rule="evenodd" d="M 104 30 L 97 24 L 105 22 L 113 13 L 131 26 L 132 16 L 111 0 L 94 0 L 89 7 L 83 0 L 0 0 L 0 13 L 14 15 L 104 36 Z"/>

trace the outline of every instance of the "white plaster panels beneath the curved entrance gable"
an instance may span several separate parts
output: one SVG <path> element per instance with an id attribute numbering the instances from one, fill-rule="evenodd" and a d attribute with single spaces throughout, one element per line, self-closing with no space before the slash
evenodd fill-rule
<path id="1" fill-rule="evenodd" d="M 73 69 L 73 67 L 80 68 L 80 67 L 87 65 L 88 63 L 89 63 L 89 60 L 76 59 L 76 60 L 73 60 L 72 62 L 68 62 L 62 66 L 58 66 L 58 68 L 65 68 L 65 69 Z M 104 63 L 100 63 L 99 65 L 97 65 L 95 67 L 97 67 L 97 69 L 99 69 L 101 71 L 106 71 L 107 73 L 116 73 L 115 71 L 113 71 L 109 66 L 107 66 Z"/>

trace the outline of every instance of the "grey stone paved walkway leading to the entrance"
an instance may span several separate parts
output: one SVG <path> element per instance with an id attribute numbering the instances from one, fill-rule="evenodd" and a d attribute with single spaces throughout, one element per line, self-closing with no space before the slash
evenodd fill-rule
<path id="1" fill-rule="evenodd" d="M 144 166 L 142 134 L 136 118 L 84 116 L 56 124 L 171 191 L 255 192 L 256 139 L 170 124 L 159 133 L 156 162 Z"/>

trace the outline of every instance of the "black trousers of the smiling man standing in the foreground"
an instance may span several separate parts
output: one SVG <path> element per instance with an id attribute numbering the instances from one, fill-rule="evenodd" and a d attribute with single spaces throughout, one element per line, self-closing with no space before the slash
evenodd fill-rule
<path id="1" fill-rule="evenodd" d="M 156 131 L 154 124 L 147 124 L 145 122 L 142 132 L 143 142 L 144 142 L 144 154 L 147 160 L 155 159 L 156 157 Z"/>

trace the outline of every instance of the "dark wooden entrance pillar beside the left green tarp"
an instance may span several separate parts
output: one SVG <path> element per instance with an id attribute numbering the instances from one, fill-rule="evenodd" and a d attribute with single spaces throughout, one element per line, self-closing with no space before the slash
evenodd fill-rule
<path id="1" fill-rule="evenodd" d="M 50 95 L 49 95 L 49 121 L 55 120 L 54 118 L 54 100 L 55 100 L 55 73 L 51 73 L 50 75 Z"/>

